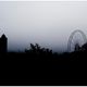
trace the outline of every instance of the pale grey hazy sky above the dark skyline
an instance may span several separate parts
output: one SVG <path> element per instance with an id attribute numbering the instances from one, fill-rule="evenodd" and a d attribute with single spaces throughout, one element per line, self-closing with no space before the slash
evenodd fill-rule
<path id="1" fill-rule="evenodd" d="M 8 36 L 9 50 L 37 42 L 65 51 L 75 29 L 87 34 L 86 1 L 0 1 L 0 35 Z"/>

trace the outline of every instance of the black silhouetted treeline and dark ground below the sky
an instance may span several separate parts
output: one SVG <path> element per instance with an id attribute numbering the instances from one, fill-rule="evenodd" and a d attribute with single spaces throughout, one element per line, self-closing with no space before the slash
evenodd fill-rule
<path id="1" fill-rule="evenodd" d="M 87 44 L 75 49 L 60 54 L 30 44 L 0 53 L 0 85 L 87 85 Z"/>

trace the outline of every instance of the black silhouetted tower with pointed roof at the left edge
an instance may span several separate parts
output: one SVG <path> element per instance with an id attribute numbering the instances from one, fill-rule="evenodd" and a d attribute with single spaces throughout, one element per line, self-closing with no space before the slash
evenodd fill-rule
<path id="1" fill-rule="evenodd" d="M 8 51 L 8 38 L 3 34 L 0 38 L 0 53 L 5 53 Z"/>

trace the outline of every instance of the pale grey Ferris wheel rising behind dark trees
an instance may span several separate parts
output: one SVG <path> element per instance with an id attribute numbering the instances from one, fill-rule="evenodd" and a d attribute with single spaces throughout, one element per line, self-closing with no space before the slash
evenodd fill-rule
<path id="1" fill-rule="evenodd" d="M 67 51 L 73 52 L 75 50 L 78 50 L 78 48 L 80 48 L 86 42 L 87 39 L 85 34 L 82 30 L 76 29 L 71 34 L 69 38 Z"/>

